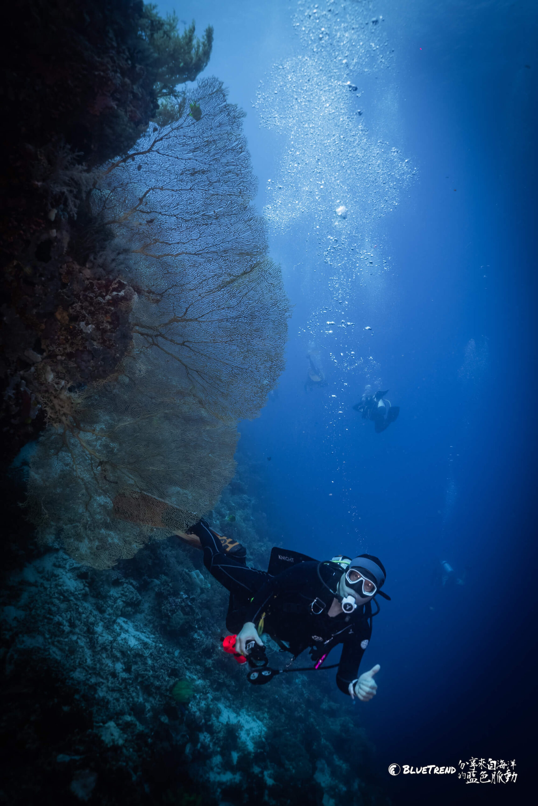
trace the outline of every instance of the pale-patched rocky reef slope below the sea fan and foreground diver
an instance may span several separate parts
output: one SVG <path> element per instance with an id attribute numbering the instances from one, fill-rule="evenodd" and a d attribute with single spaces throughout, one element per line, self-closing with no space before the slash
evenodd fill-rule
<path id="1" fill-rule="evenodd" d="M 265 567 L 271 543 L 245 478 L 241 464 L 209 518 Z M 251 687 L 223 652 L 227 593 L 199 550 L 171 537 L 97 571 L 22 540 L 27 522 L 16 505 L 11 515 L 0 802 L 388 803 L 333 672 Z"/>

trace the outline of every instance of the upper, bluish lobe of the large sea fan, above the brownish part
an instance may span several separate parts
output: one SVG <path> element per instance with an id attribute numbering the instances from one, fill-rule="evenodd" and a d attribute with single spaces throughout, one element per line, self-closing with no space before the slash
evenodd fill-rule
<path id="1" fill-rule="evenodd" d="M 200 107 L 201 119 L 188 111 Z M 180 118 L 152 125 L 106 168 L 101 213 L 131 244 L 144 293 L 132 317 L 138 350 L 176 362 L 184 388 L 227 422 L 259 413 L 283 370 L 288 301 L 267 257 L 244 113 L 221 82 L 186 93 Z"/>

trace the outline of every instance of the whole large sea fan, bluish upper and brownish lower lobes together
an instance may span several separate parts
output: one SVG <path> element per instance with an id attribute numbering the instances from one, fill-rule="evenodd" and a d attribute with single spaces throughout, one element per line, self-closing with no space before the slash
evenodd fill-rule
<path id="1" fill-rule="evenodd" d="M 283 369 L 288 301 L 251 204 L 242 117 L 219 81 L 200 81 L 94 192 L 128 248 L 132 346 L 114 376 L 66 393 L 29 484 L 43 536 L 81 563 L 110 567 L 212 509 L 238 419 Z"/>

